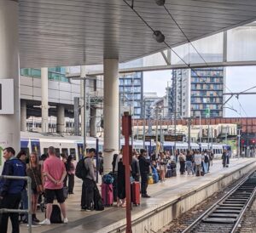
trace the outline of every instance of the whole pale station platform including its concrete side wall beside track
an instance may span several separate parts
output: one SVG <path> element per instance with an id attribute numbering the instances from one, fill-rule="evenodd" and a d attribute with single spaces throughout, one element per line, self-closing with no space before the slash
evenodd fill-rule
<path id="1" fill-rule="evenodd" d="M 231 159 L 230 167 L 223 168 L 220 160 L 213 161 L 210 173 L 203 177 L 179 175 L 165 182 L 148 185 L 151 198 L 143 198 L 138 207 L 132 207 L 133 232 L 156 232 L 177 218 L 181 213 L 211 196 L 230 182 L 256 168 L 255 158 Z M 178 173 L 178 171 L 177 171 Z M 81 181 L 75 182 L 74 195 L 67 199 L 68 224 L 51 224 L 33 227 L 32 232 L 124 232 L 125 208 L 105 207 L 102 212 L 81 212 Z M 37 213 L 44 219 L 44 213 Z M 20 232 L 27 232 L 26 225 L 20 225 Z"/>

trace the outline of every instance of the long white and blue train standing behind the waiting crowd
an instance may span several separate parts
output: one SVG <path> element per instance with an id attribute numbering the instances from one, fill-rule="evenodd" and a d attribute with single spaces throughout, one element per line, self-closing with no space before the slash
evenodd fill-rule
<path id="1" fill-rule="evenodd" d="M 80 136 L 61 136 L 61 135 L 50 135 L 50 134 L 39 134 L 31 132 L 20 133 L 20 149 L 24 150 L 29 154 L 31 151 L 36 151 L 38 155 L 47 153 L 47 149 L 50 145 L 55 147 L 57 154 L 73 155 L 75 160 L 79 160 L 83 156 L 83 137 Z M 87 147 L 96 147 L 96 138 L 86 137 Z M 120 145 L 124 145 L 124 139 L 120 140 Z M 103 139 L 99 139 L 99 151 L 103 151 Z M 186 142 L 167 142 L 164 141 L 159 145 L 160 150 L 170 151 L 174 153 L 176 146 L 177 151 L 188 150 L 188 143 Z M 132 142 L 132 148 L 139 151 L 143 149 L 143 140 L 134 139 Z M 223 150 L 230 151 L 230 145 L 225 144 L 207 144 L 207 143 L 191 143 L 191 150 L 207 150 L 211 149 L 215 157 L 221 157 Z M 146 141 L 145 148 L 148 151 L 148 155 L 153 153 L 156 149 L 154 141 Z"/>

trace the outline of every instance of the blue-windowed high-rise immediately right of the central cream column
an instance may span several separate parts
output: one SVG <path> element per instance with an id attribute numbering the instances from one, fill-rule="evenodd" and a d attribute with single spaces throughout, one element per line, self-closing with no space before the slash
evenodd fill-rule
<path id="1" fill-rule="evenodd" d="M 143 117 L 143 72 L 131 72 L 119 77 L 120 106 L 131 110 L 133 118 Z"/>

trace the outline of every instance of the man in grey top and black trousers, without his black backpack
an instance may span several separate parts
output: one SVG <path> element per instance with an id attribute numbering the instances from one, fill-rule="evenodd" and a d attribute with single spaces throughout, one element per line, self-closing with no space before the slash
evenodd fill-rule
<path id="1" fill-rule="evenodd" d="M 93 157 L 96 155 L 96 150 L 90 148 L 86 156 L 84 156 L 84 176 L 82 185 L 82 196 L 81 196 L 81 210 L 92 211 L 93 198 L 94 198 L 94 188 L 96 184 L 96 178 L 93 167 Z M 79 164 L 77 165 L 77 168 Z M 77 175 L 77 171 L 76 171 Z"/>

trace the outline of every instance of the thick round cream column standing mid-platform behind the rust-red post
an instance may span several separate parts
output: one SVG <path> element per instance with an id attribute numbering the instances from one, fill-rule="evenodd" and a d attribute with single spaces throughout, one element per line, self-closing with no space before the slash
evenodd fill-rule
<path id="1" fill-rule="evenodd" d="M 104 59 L 104 173 L 119 153 L 119 60 Z"/>

